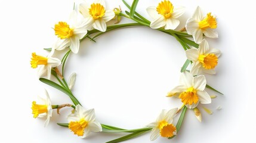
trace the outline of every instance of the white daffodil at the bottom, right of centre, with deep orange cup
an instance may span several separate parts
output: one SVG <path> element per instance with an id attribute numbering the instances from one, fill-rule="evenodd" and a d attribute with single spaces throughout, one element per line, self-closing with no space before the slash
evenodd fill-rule
<path id="1" fill-rule="evenodd" d="M 175 116 L 178 108 L 173 108 L 169 111 L 162 110 L 159 114 L 156 122 L 150 123 L 147 127 L 152 128 L 150 141 L 154 141 L 159 135 L 165 138 L 169 138 L 176 135 L 176 127 L 172 124 L 173 117 Z"/>

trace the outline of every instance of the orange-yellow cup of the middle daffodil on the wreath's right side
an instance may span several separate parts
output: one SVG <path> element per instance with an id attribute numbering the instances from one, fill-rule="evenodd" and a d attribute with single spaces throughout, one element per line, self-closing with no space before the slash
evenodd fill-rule
<path id="1" fill-rule="evenodd" d="M 199 55 L 198 60 L 206 70 L 214 69 L 218 64 L 218 57 L 215 54 Z"/>

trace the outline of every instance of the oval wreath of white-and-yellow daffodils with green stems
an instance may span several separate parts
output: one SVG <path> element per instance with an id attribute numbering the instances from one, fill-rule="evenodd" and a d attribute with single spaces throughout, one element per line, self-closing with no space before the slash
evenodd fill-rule
<path id="1" fill-rule="evenodd" d="M 39 80 L 68 95 L 73 102 L 73 104 L 53 105 L 48 92 L 45 90 L 46 98 L 40 98 L 40 104 L 36 101 L 32 102 L 33 117 L 46 117 L 44 126 L 48 125 L 54 109 L 59 114 L 61 108 L 72 107 L 72 113 L 67 116 L 68 123 L 57 123 L 57 125 L 69 128 L 81 138 L 87 137 L 90 132 L 129 133 L 121 138 L 109 141 L 121 142 L 151 131 L 151 141 L 154 141 L 158 136 L 171 139 L 180 130 L 187 108 L 193 109 L 196 118 L 201 122 L 201 112 L 197 108 L 199 102 L 201 104 L 210 104 L 211 98 L 216 97 L 215 95 L 210 96 L 205 91 L 205 88 L 221 94 L 221 92 L 206 84 L 206 78 L 203 75 L 203 73 L 215 74 L 214 69 L 220 56 L 220 50 L 210 48 L 208 42 L 203 39 L 204 37 L 218 38 L 218 33 L 214 30 L 217 28 L 217 20 L 214 15 L 211 13 L 203 15 L 201 8 L 197 7 L 192 18 L 187 20 L 184 29 L 174 30 L 180 24 L 178 17 L 185 12 L 184 7 L 172 5 L 170 1 L 163 0 L 159 2 L 157 7 L 147 8 L 147 13 L 152 18 L 149 21 L 135 11 L 138 0 L 134 0 L 131 6 L 125 0 L 122 0 L 122 2 L 124 2 L 129 11 L 122 13 L 121 8 L 106 10 L 104 0 L 95 0 L 91 3 L 84 1 L 79 4 L 79 13 L 77 13 L 74 4 L 69 21 L 59 21 L 54 26 L 57 41 L 52 48 L 45 48 L 45 50 L 50 51 L 50 54 L 47 57 L 43 57 L 35 52 L 32 53 L 30 64 L 32 68 L 38 68 Z M 134 23 L 118 24 L 122 17 L 129 18 Z M 106 23 L 113 19 L 117 22 L 112 26 L 107 26 Z M 146 26 L 171 35 L 184 48 L 187 60 L 181 68 L 180 83 L 169 91 L 166 96 L 180 98 L 183 105 L 180 108 L 162 110 L 155 122 L 144 128 L 122 129 L 97 122 L 94 109 L 86 110 L 82 107 L 72 94 L 72 86 L 75 84 L 76 74 L 73 73 L 68 82 L 66 82 L 64 66 L 70 53 L 76 54 L 79 52 L 79 43 L 84 39 L 90 39 L 90 41 L 95 42 L 95 38 L 104 33 L 134 26 Z M 53 57 L 55 50 L 60 51 L 66 48 L 69 48 L 69 50 L 63 55 L 62 60 Z M 187 70 L 189 64 L 191 64 L 190 70 Z M 59 67 L 61 72 L 58 70 Z M 59 83 L 51 80 L 51 75 Z M 218 107 L 218 109 L 220 108 Z M 203 109 L 212 114 L 212 111 L 208 108 L 203 107 Z M 175 124 L 173 119 L 178 114 L 180 117 Z"/>

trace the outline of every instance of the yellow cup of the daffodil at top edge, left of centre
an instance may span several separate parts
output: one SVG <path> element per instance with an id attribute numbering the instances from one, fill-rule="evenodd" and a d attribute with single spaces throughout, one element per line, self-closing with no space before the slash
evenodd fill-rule
<path id="1" fill-rule="evenodd" d="M 105 15 L 105 12 L 106 10 L 101 4 L 91 4 L 91 8 L 89 8 L 89 13 L 95 20 L 103 17 Z"/>

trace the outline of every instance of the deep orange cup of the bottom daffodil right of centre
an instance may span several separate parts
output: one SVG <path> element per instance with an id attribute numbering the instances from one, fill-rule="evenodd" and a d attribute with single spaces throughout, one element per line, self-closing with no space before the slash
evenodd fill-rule
<path id="1" fill-rule="evenodd" d="M 158 128 L 160 130 L 160 135 L 166 138 L 169 138 L 173 136 L 176 127 L 172 124 L 168 124 L 165 120 L 162 120 L 161 122 L 158 123 Z"/>

